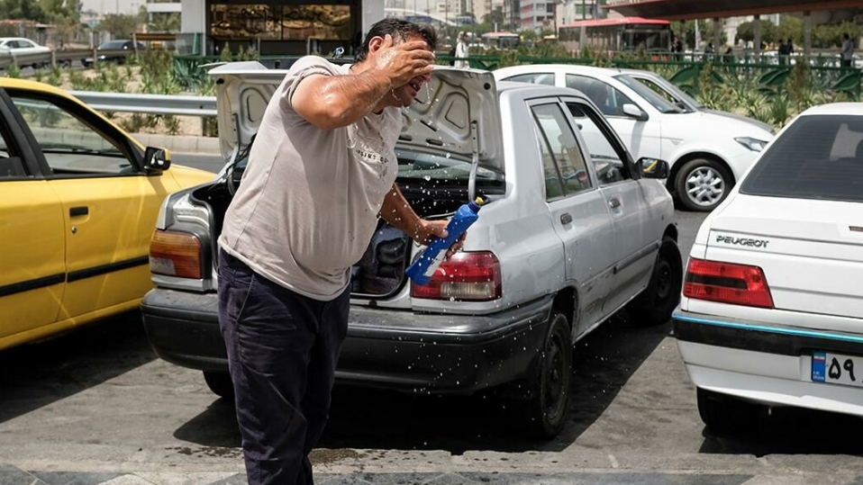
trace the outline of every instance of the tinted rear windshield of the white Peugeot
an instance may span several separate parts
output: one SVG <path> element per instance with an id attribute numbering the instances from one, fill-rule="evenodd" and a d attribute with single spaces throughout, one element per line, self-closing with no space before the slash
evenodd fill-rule
<path id="1" fill-rule="evenodd" d="M 759 158 L 740 193 L 863 202 L 863 116 L 797 119 Z"/>

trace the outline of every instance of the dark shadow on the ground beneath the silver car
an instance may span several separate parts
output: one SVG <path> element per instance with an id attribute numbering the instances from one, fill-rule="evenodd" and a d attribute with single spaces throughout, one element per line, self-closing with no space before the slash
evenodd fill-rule
<path id="1" fill-rule="evenodd" d="M 337 386 L 330 423 L 319 448 L 395 450 L 468 450 L 518 453 L 560 451 L 572 445 L 603 414 L 670 324 L 643 328 L 615 316 L 578 342 L 574 351 L 569 421 L 550 441 L 519 436 L 512 413 L 489 395 L 427 396 Z M 175 432 L 175 437 L 204 446 L 236 446 L 240 435 L 230 402 L 213 405 Z M 229 425 L 230 423 L 230 425 Z"/>

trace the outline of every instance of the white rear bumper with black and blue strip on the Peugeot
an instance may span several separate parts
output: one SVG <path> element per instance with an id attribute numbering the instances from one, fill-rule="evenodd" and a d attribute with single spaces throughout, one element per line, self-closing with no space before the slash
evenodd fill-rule
<path id="1" fill-rule="evenodd" d="M 696 387 L 771 406 L 863 416 L 863 385 L 813 381 L 813 351 L 863 355 L 863 335 L 677 310 L 677 348 Z M 863 369 L 860 369 L 863 376 Z"/>

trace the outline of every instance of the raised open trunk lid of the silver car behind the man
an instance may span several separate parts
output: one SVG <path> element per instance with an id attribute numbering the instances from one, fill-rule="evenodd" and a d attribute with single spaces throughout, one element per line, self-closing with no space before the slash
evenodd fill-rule
<path id="1" fill-rule="evenodd" d="M 225 160 L 249 145 L 286 74 L 286 69 L 270 69 L 257 61 L 229 62 L 210 69 Z M 491 73 L 435 67 L 431 83 L 403 113 L 399 147 L 467 157 L 477 166 L 504 173 L 500 108 Z"/>

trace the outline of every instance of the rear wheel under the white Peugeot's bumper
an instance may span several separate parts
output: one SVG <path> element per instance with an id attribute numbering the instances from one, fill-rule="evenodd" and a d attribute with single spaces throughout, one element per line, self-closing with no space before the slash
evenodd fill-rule
<path id="1" fill-rule="evenodd" d="M 755 432 L 763 406 L 697 389 L 698 414 L 715 436 L 745 436 Z"/>

